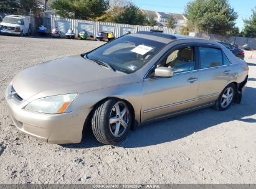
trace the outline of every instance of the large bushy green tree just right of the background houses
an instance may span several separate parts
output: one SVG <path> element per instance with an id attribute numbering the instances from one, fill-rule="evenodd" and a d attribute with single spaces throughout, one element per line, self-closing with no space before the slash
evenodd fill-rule
<path id="1" fill-rule="evenodd" d="M 235 27 L 237 12 L 228 0 L 195 0 L 186 6 L 186 17 L 196 32 L 227 35 Z"/>

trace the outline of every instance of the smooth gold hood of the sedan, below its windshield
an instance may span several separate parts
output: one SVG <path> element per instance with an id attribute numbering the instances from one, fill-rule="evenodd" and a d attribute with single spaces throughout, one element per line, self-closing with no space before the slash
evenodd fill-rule
<path id="1" fill-rule="evenodd" d="M 80 55 L 40 63 L 18 73 L 12 86 L 22 99 L 67 93 L 86 93 L 138 82 L 136 77 L 101 67 Z"/>

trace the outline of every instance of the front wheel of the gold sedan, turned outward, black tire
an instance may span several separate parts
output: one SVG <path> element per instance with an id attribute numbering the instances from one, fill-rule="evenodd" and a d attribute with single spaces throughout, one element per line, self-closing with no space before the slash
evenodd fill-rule
<path id="1" fill-rule="evenodd" d="M 125 140 L 130 131 L 131 120 L 130 108 L 124 101 L 108 99 L 95 108 L 92 131 L 99 142 L 116 145 Z"/>

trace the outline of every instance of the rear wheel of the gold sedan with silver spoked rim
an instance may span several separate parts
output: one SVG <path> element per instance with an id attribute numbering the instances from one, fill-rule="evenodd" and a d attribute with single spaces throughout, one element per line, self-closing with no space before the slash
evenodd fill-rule
<path id="1" fill-rule="evenodd" d="M 227 95 L 227 93 L 229 93 L 229 96 Z M 230 83 L 220 93 L 219 98 L 216 100 L 214 104 L 214 108 L 217 109 L 218 111 L 224 111 L 230 107 L 234 99 L 235 99 L 235 85 L 233 83 Z"/>

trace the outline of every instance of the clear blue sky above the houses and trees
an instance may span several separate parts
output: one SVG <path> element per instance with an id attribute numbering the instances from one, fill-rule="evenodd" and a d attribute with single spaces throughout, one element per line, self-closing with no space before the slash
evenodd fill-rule
<path id="1" fill-rule="evenodd" d="M 184 7 L 189 0 L 133 0 L 140 9 L 159 12 L 184 13 Z M 249 19 L 252 9 L 256 6 L 256 0 L 229 0 L 231 7 L 239 14 L 237 26 L 241 30 L 244 27 L 243 19 Z"/>

